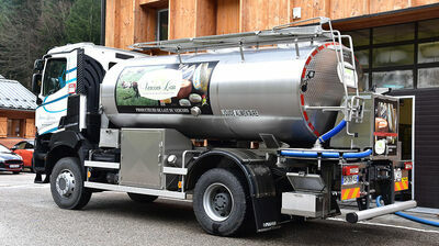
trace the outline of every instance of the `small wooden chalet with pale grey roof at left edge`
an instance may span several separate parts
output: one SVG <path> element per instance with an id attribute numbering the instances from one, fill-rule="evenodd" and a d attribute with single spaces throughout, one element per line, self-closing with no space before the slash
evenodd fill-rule
<path id="1" fill-rule="evenodd" d="M 35 96 L 19 81 L 0 76 L 0 143 L 11 147 L 35 136 Z"/>

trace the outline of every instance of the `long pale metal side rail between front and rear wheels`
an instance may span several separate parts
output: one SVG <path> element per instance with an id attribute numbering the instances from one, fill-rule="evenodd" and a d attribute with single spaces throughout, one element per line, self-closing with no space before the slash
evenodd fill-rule
<path id="1" fill-rule="evenodd" d="M 86 188 L 93 188 L 93 189 L 100 189 L 100 190 L 111 190 L 111 191 L 131 192 L 131 193 L 138 193 L 138 194 L 149 194 L 149 195 L 183 199 L 183 200 L 187 199 L 185 192 L 179 192 L 179 191 L 156 190 L 156 189 L 126 187 L 126 186 L 109 185 L 109 183 L 101 183 L 101 182 L 90 182 L 90 181 L 86 181 L 83 183 L 83 186 Z"/>

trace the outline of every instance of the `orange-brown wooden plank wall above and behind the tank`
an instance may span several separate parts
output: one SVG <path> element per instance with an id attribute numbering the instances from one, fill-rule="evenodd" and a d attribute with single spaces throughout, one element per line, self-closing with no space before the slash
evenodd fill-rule
<path id="1" fill-rule="evenodd" d="M 301 8 L 302 18 L 297 20 L 314 16 L 339 20 L 434 3 L 439 0 L 108 0 L 105 45 L 127 48 L 133 43 L 155 41 L 156 14 L 160 9 L 169 9 L 168 36 L 172 40 L 271 29 L 292 22 L 293 8 Z M 399 19 L 371 15 L 372 22 L 368 19 L 340 26 L 357 29 L 373 21 L 382 25 L 438 15 L 438 9 L 431 8 Z"/>

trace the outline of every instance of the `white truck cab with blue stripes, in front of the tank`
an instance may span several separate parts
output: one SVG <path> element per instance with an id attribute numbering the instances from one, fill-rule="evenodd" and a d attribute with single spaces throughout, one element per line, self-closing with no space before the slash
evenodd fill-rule
<path id="1" fill-rule="evenodd" d="M 34 170 L 37 174 L 47 172 L 44 158 L 54 133 L 59 133 L 68 127 L 67 115 L 71 114 L 68 98 L 82 91 L 87 102 L 82 107 L 81 121 L 78 121 L 78 130 L 86 128 L 86 116 L 94 115 L 93 127 L 99 131 L 101 122 L 99 115 L 99 90 L 105 72 L 117 63 L 131 58 L 146 57 L 140 53 L 115 49 L 92 43 L 69 44 L 54 47 L 42 59 L 35 60 L 33 75 L 33 91 L 37 97 L 35 112 L 36 142 L 34 154 Z M 69 111 L 70 110 L 70 111 Z M 79 118 L 79 109 L 75 116 Z M 89 122 L 90 123 L 90 122 Z M 87 133 L 85 133 L 87 134 Z M 97 137 L 92 131 L 88 131 L 92 139 Z M 48 169 L 49 170 L 49 169 Z"/>

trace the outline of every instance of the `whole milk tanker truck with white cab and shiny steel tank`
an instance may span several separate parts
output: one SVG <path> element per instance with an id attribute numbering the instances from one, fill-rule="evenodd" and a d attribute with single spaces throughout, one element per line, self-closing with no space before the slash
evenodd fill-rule
<path id="1" fill-rule="evenodd" d="M 137 202 L 192 200 L 207 233 L 279 227 L 294 217 L 347 221 L 393 203 L 395 98 L 359 92 L 350 36 L 330 21 L 134 44 L 80 43 L 35 62 L 33 168 L 61 209 L 93 192 Z M 346 45 L 342 45 L 346 43 Z"/>

